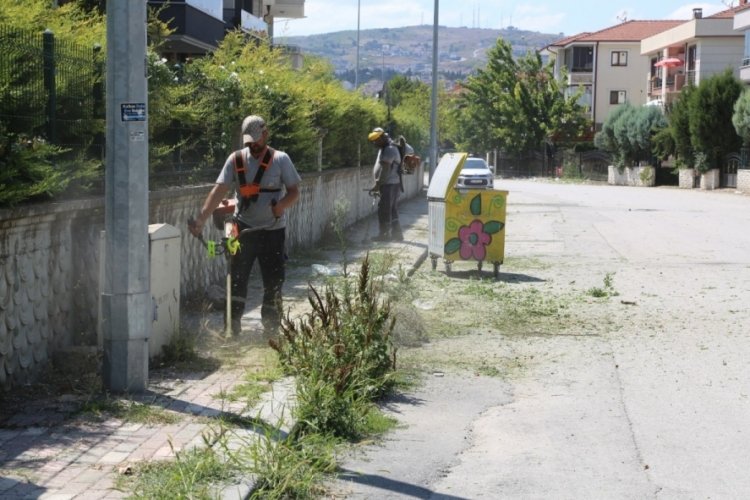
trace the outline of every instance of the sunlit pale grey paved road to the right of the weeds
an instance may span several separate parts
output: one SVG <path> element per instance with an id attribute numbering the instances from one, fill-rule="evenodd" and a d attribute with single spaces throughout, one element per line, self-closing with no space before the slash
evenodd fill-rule
<path id="1" fill-rule="evenodd" d="M 596 334 L 487 339 L 523 376 L 430 377 L 351 498 L 750 498 L 750 197 L 500 181 L 512 257 L 619 300 Z M 506 266 L 504 266 L 506 267 Z M 601 326 L 601 325 L 600 325 Z"/>

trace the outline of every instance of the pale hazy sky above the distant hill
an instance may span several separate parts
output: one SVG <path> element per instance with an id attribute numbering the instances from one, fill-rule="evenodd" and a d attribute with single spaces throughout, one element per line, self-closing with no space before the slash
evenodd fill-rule
<path id="1" fill-rule="evenodd" d="M 432 24 L 435 0 L 359 0 L 361 29 Z M 597 31 L 622 19 L 689 19 L 694 7 L 710 15 L 730 0 L 440 0 L 439 24 L 500 29 L 515 26 L 573 35 Z M 733 4 L 737 5 L 738 0 Z M 305 19 L 277 19 L 274 36 L 311 35 L 357 29 L 357 0 L 305 0 Z M 619 19 L 619 20 L 618 20 Z"/>

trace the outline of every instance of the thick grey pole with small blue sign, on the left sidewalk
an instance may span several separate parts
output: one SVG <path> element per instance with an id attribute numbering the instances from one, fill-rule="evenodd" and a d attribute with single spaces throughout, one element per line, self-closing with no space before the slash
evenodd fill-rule
<path id="1" fill-rule="evenodd" d="M 152 301 L 148 242 L 146 0 L 107 2 L 104 386 L 148 381 Z"/>

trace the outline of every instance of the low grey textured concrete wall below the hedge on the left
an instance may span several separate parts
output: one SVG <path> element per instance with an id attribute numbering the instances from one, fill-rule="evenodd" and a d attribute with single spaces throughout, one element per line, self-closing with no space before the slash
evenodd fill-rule
<path id="1" fill-rule="evenodd" d="M 311 248 L 330 234 L 337 203 L 349 207 L 345 226 L 375 211 L 366 192 L 372 186 L 369 167 L 302 177 L 300 201 L 289 213 L 290 254 Z M 404 198 L 419 194 L 423 179 L 421 169 L 404 176 Z M 209 259 L 186 231 L 186 221 L 198 212 L 211 187 L 149 195 L 149 223 L 166 223 L 182 231 L 183 298 L 223 282 L 224 259 Z M 97 345 L 104 209 L 103 198 L 0 209 L 0 389 L 32 380 L 56 351 Z M 209 226 L 204 235 L 220 239 L 218 230 Z"/>

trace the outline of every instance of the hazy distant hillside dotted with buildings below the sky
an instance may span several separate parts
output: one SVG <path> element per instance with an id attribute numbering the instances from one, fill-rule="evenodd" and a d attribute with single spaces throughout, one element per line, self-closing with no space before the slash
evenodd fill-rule
<path id="1" fill-rule="evenodd" d="M 468 75 L 487 62 L 486 52 L 499 37 L 508 40 L 519 56 L 538 50 L 563 37 L 524 31 L 513 27 L 492 30 L 483 28 L 438 28 L 440 72 Z M 404 28 L 360 30 L 360 80 L 366 75 L 381 78 L 393 72 L 414 75 L 429 74 L 432 69 L 432 25 Z M 277 37 L 276 42 L 299 46 L 303 52 L 331 61 L 341 75 L 353 73 L 357 54 L 357 31 L 338 31 L 301 37 Z M 363 78 L 365 76 L 365 78 Z"/>

